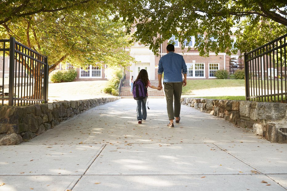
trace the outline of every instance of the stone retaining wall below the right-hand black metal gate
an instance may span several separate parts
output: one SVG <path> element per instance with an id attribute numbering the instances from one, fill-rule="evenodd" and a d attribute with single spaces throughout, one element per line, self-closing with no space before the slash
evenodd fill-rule
<path id="1" fill-rule="evenodd" d="M 181 98 L 181 104 L 224 118 L 268 141 L 287 143 L 287 104 Z"/>

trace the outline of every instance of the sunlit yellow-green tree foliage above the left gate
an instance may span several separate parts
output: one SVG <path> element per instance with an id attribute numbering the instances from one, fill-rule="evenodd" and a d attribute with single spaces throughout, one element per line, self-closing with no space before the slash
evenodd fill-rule
<path id="1" fill-rule="evenodd" d="M 102 5 L 95 14 L 95 1 L 21 2 L 18 1 L 21 11 L 16 3 L 14 6 L 9 4 L 5 17 L 0 14 L 2 22 L 10 18 L 0 25 L 0 38 L 13 36 L 18 42 L 48 56 L 50 72 L 61 62 L 77 67 L 90 64 L 125 67 L 132 60 L 124 50 L 130 43 L 123 23 L 112 20 L 111 12 L 106 9 L 108 6 Z M 93 11 L 87 12 L 91 9 Z"/>

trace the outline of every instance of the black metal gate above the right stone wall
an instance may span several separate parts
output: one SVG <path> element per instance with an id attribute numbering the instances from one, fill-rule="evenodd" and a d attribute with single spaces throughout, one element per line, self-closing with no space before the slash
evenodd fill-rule
<path id="1" fill-rule="evenodd" d="M 246 100 L 287 101 L 286 38 L 244 54 Z"/>

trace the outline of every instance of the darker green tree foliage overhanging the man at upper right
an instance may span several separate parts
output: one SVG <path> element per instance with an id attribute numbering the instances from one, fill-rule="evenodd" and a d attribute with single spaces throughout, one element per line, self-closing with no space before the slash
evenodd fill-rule
<path id="1" fill-rule="evenodd" d="M 287 6 L 280 0 L 137 0 L 118 1 L 116 6 L 126 24 L 137 28 L 133 40 L 154 53 L 172 35 L 182 48 L 184 40 L 194 36 L 200 55 L 208 55 L 246 52 L 287 33 Z M 235 44 L 232 34 L 237 36 Z"/>

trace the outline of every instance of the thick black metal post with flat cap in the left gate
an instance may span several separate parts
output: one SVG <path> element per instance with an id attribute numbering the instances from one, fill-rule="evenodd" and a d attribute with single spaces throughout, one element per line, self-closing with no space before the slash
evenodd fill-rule
<path id="1" fill-rule="evenodd" d="M 9 103 L 13 105 L 14 101 L 14 67 L 15 67 L 15 38 L 10 37 L 10 63 L 9 63 Z"/>

